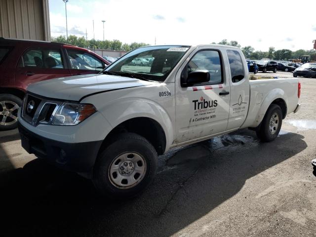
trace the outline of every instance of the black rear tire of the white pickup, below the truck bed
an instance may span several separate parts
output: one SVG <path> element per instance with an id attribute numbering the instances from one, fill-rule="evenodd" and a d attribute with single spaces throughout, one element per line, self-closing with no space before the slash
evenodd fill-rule
<path id="1" fill-rule="evenodd" d="M 276 130 L 270 129 L 270 121 L 273 116 L 277 115 L 277 128 Z M 270 105 L 265 117 L 261 122 L 259 130 L 256 131 L 257 137 L 263 142 L 271 142 L 276 139 L 278 133 L 280 132 L 282 126 L 282 110 L 278 105 Z"/>

